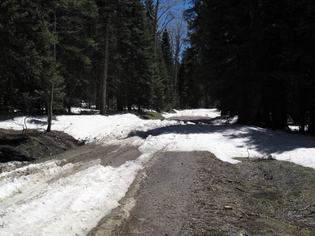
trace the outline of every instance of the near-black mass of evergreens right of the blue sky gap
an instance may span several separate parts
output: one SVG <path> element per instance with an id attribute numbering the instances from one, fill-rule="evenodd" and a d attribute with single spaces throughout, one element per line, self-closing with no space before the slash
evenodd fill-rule
<path id="1" fill-rule="evenodd" d="M 191 2 L 186 18 L 196 62 L 181 76 L 200 76 L 203 103 L 209 96 L 242 124 L 287 129 L 291 117 L 314 133 L 314 1 Z"/>

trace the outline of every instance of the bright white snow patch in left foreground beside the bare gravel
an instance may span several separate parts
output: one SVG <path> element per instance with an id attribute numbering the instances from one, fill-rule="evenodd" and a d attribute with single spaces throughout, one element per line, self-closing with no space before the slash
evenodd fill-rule
<path id="1" fill-rule="evenodd" d="M 141 169 L 134 162 L 118 168 L 96 164 L 55 182 L 46 182 L 45 188 L 23 204 L 4 208 L 1 203 L 0 224 L 4 225 L 0 234 L 87 235 L 105 214 L 119 205 L 118 201 Z M 30 182 L 38 179 L 34 175 L 27 178 Z M 19 194 L 24 195 L 24 190 Z"/>

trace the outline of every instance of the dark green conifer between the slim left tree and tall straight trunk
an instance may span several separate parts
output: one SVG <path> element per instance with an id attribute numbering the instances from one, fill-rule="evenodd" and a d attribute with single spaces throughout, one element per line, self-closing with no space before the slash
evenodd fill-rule
<path id="1" fill-rule="evenodd" d="M 65 78 L 65 107 L 78 106 L 81 100 L 95 101 L 95 74 L 92 59 L 97 50 L 95 20 L 98 17 L 95 1 L 71 2 L 59 9 L 57 32 L 59 35 L 59 62 Z M 91 94 L 92 93 L 92 94 Z"/>

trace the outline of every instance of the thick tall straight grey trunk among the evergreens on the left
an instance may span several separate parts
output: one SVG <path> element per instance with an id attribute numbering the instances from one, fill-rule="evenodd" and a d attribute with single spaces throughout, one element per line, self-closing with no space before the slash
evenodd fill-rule
<path id="1" fill-rule="evenodd" d="M 110 0 L 107 0 L 106 26 L 105 26 L 105 47 L 104 47 L 104 66 L 102 76 L 102 95 L 99 114 L 104 115 L 106 110 L 106 87 L 108 72 L 108 44 L 109 44 L 109 25 L 110 25 Z"/>

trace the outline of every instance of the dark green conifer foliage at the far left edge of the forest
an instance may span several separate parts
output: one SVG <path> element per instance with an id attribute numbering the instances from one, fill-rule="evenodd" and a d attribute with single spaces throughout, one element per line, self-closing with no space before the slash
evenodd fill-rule
<path id="1" fill-rule="evenodd" d="M 47 102 L 51 80 L 59 89 L 51 20 L 57 4 L 63 1 L 0 2 L 0 112 L 33 114 Z"/>

